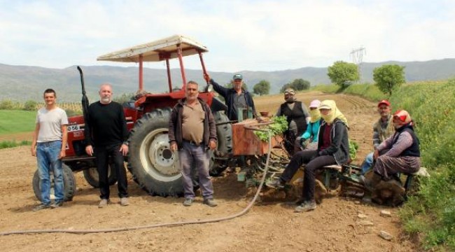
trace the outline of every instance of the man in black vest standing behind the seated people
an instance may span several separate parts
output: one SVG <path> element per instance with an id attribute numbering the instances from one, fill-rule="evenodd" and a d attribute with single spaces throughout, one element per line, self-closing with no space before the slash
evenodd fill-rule
<path id="1" fill-rule="evenodd" d="M 293 155 L 300 149 L 300 135 L 307 130 L 310 116 L 307 106 L 295 99 L 295 91 L 292 88 L 284 90 L 284 101 L 276 111 L 276 116 L 286 116 L 288 120 L 288 130 L 284 132 L 285 147 L 286 151 Z"/>

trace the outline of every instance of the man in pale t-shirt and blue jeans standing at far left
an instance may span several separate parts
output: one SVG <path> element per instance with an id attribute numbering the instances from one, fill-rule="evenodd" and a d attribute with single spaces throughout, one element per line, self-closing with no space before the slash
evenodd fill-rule
<path id="1" fill-rule="evenodd" d="M 52 89 L 44 91 L 45 107 L 36 114 L 36 128 L 31 142 L 31 155 L 36 157 L 41 190 L 41 204 L 33 209 L 61 207 L 64 201 L 62 158 L 66 148 L 68 118 L 55 104 Z M 50 172 L 54 174 L 55 201 L 50 204 Z"/>

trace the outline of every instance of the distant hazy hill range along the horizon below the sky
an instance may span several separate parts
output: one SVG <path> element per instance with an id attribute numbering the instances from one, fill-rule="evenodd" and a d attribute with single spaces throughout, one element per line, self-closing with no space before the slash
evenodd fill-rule
<path id="1" fill-rule="evenodd" d="M 383 64 L 399 64 L 405 66 L 407 81 L 442 80 L 455 76 L 455 59 L 437 59 L 426 62 L 379 62 L 361 64 L 362 81 L 372 83 L 372 71 Z M 97 99 L 99 85 L 109 82 L 113 85 L 114 96 L 136 92 L 138 88 L 137 66 L 81 66 L 84 71 L 85 88 L 90 101 Z M 210 69 L 209 69 L 210 70 Z M 174 87 L 180 87 L 180 69 L 172 69 Z M 260 80 L 271 84 L 271 93 L 279 92 L 280 88 L 294 80 L 303 78 L 311 85 L 329 84 L 326 67 L 303 67 L 283 71 L 241 71 L 250 90 Z M 233 73 L 210 72 L 218 83 L 229 83 Z M 202 71 L 186 69 L 187 80 L 204 83 Z M 43 90 L 52 87 L 57 91 L 59 101 L 80 101 L 80 77 L 76 66 L 65 69 L 48 69 L 39 66 L 11 66 L 0 64 L 0 100 L 13 99 L 25 101 L 33 99 L 41 101 Z M 166 92 L 167 76 L 165 69 L 144 68 L 144 89 L 148 92 Z"/>

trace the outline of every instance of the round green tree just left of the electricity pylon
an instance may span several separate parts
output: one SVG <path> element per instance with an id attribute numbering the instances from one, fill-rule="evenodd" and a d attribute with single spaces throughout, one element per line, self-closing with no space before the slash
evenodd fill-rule
<path id="1" fill-rule="evenodd" d="M 356 64 L 337 61 L 329 66 L 327 69 L 327 75 L 332 83 L 339 85 L 342 88 L 351 85 L 354 81 L 360 79 L 358 74 L 358 68 Z"/>

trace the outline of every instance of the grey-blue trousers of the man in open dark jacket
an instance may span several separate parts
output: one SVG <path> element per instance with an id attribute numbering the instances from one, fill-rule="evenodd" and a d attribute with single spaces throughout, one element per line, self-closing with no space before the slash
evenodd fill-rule
<path id="1" fill-rule="evenodd" d="M 195 167 L 199 175 L 199 183 L 204 199 L 213 199 L 214 188 L 209 175 L 210 153 L 205 149 L 204 144 L 196 146 L 188 141 L 183 141 L 179 150 L 180 167 L 183 177 L 183 191 L 185 198 L 194 199 L 193 178 L 191 168 Z"/>

